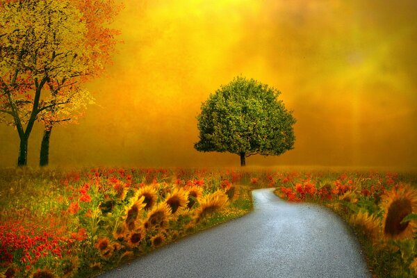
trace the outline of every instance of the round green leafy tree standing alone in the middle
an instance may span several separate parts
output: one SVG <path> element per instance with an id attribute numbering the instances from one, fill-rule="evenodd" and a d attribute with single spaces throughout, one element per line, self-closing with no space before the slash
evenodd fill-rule
<path id="1" fill-rule="evenodd" d="M 230 152 L 240 165 L 254 154 L 279 155 L 293 149 L 295 118 L 280 92 L 254 79 L 236 77 L 211 94 L 197 116 L 199 152 Z"/>

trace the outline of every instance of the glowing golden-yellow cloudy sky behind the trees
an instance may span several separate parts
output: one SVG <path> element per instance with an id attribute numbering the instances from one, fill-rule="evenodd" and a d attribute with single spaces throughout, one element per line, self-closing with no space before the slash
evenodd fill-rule
<path id="1" fill-rule="evenodd" d="M 97 105 L 51 136 L 51 165 L 225 166 L 199 153 L 202 101 L 242 74 L 282 92 L 295 149 L 247 165 L 417 166 L 417 1 L 126 0 Z M 42 126 L 31 134 L 37 165 Z M 18 136 L 0 127 L 0 166 Z"/>

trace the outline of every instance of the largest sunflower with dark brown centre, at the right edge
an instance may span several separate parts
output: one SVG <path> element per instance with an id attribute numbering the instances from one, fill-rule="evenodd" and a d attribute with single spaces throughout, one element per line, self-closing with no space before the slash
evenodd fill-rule
<path id="1" fill-rule="evenodd" d="M 384 210 L 384 236 L 392 239 L 412 238 L 416 222 L 402 220 L 417 211 L 417 193 L 411 186 L 400 186 L 387 191 L 381 202 Z"/>

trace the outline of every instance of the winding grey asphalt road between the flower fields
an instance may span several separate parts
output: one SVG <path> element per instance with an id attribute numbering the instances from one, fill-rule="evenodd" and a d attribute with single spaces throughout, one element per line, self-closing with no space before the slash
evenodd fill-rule
<path id="1" fill-rule="evenodd" d="M 105 277 L 371 277 L 337 215 L 254 190 L 254 211 L 142 256 Z"/>

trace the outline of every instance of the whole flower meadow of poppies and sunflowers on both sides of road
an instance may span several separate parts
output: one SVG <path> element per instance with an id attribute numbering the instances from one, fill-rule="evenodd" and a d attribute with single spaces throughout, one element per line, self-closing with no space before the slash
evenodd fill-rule
<path id="1" fill-rule="evenodd" d="M 95 277 L 252 210 L 250 191 L 332 209 L 374 277 L 416 277 L 417 174 L 277 168 L 0 170 L 0 277 Z"/>

